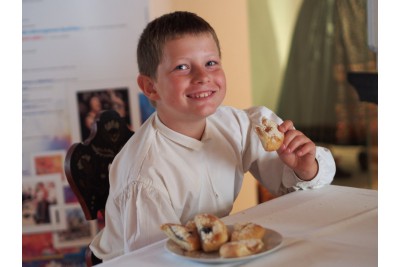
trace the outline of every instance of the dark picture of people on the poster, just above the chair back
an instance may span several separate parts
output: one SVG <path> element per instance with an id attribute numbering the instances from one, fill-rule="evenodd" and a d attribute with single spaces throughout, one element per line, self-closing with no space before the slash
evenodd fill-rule
<path id="1" fill-rule="evenodd" d="M 116 110 L 131 127 L 128 88 L 106 88 L 77 92 L 81 140 L 89 137 L 90 129 L 101 110 Z"/>

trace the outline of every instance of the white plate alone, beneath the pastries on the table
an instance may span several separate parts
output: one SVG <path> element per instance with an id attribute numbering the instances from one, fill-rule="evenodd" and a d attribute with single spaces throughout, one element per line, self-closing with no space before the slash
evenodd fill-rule
<path id="1" fill-rule="evenodd" d="M 228 226 L 232 229 L 232 226 Z M 272 229 L 265 228 L 265 235 L 263 238 L 264 248 L 257 254 L 239 257 L 239 258 L 221 258 L 218 251 L 216 252 L 203 252 L 199 251 L 185 251 L 181 249 L 177 244 L 175 244 L 171 239 L 165 243 L 165 249 L 171 254 L 178 256 L 183 259 L 197 261 L 202 263 L 230 263 L 252 260 L 264 255 L 271 253 L 276 250 L 282 243 L 282 235 Z"/>

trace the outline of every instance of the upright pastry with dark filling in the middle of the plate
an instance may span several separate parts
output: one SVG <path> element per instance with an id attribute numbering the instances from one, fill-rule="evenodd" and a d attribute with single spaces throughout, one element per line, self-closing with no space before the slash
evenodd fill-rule
<path id="1" fill-rule="evenodd" d="M 228 241 L 228 228 L 218 217 L 211 214 L 198 214 L 194 217 L 194 222 L 204 252 L 218 251 Z"/>

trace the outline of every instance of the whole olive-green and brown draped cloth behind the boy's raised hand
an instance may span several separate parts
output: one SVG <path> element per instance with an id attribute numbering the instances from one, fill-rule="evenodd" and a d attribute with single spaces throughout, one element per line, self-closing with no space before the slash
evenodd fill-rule
<path id="1" fill-rule="evenodd" d="M 366 141 L 366 104 L 346 80 L 349 71 L 376 70 L 366 32 L 365 0 L 303 1 L 277 113 L 315 142 Z"/>

